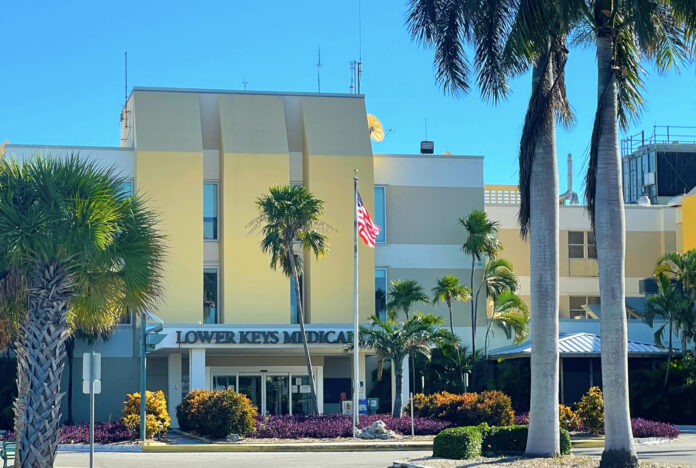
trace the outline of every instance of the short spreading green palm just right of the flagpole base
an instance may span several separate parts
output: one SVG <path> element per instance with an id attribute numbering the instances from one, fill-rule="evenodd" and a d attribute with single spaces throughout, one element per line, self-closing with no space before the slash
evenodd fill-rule
<path id="1" fill-rule="evenodd" d="M 396 376 L 396 389 L 394 390 L 394 408 L 392 416 L 401 417 L 403 402 L 401 391 L 403 388 L 403 361 L 409 355 L 420 354 L 426 358 L 431 356 L 431 347 L 438 343 L 457 343 L 458 338 L 447 330 L 440 328 L 442 317 L 434 314 L 422 314 L 416 312 L 413 317 L 405 322 L 397 322 L 393 319 L 380 320 L 373 315 L 369 327 L 360 327 L 360 347 L 377 353 L 378 374 L 385 360 L 391 360 Z M 347 349 L 352 349 L 348 345 Z"/>

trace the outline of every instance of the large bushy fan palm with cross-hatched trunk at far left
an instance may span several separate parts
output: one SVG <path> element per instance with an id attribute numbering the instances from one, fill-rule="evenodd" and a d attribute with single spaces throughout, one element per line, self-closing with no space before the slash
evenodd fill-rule
<path id="1" fill-rule="evenodd" d="M 78 156 L 0 163 L 0 307 L 26 305 L 15 345 L 15 466 L 53 466 L 73 306 L 89 298 L 90 310 L 140 312 L 161 294 L 156 218 L 123 182 Z"/>

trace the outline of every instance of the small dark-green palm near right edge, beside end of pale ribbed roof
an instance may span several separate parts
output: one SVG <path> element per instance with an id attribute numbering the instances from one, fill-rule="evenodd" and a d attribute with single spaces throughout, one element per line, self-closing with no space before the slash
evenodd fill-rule
<path id="1" fill-rule="evenodd" d="M 663 347 L 662 337 L 667 329 L 667 371 L 665 372 L 664 388 L 667 388 L 669 379 L 669 365 L 672 360 L 672 336 L 675 323 L 677 327 L 688 317 L 692 309 L 689 298 L 674 284 L 664 272 L 655 275 L 657 280 L 657 293 L 652 294 L 646 299 L 645 315 L 643 320 L 652 328 L 656 318 L 663 320 L 664 323 L 655 330 L 655 344 Z M 688 320 L 688 319 L 687 319 Z M 684 337 L 684 335 L 682 335 Z M 686 350 L 682 340 L 682 349 Z"/>

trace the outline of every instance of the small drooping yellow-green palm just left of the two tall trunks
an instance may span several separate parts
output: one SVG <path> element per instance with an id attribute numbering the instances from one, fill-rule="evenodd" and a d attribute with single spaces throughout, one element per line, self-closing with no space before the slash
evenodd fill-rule
<path id="1" fill-rule="evenodd" d="M 493 327 L 502 330 L 507 339 L 515 344 L 529 337 L 529 309 L 527 304 L 514 292 L 506 289 L 493 297 L 493 310 L 488 317 L 484 354 L 488 358 L 488 335 Z M 495 334 L 495 332 L 493 332 Z"/>

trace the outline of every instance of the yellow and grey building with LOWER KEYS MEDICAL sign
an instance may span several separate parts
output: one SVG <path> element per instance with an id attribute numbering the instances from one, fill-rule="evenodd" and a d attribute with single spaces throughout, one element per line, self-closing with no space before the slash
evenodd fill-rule
<path id="1" fill-rule="evenodd" d="M 256 200 L 270 186 L 304 185 L 326 203 L 330 252 L 318 261 L 306 256 L 301 285 L 321 412 L 339 412 L 351 398 L 344 348 L 353 321 L 355 169 L 365 206 L 383 228 L 376 248 L 359 243 L 360 321 L 385 313 L 389 281 L 416 279 L 428 292 L 444 274 L 468 283 L 471 259 L 460 251 L 457 219 L 483 208 L 483 158 L 374 155 L 363 96 L 134 88 L 121 123 L 120 148 L 8 144 L 4 151 L 19 159 L 78 152 L 116 167 L 158 213 L 168 254 L 152 312 L 165 336 L 148 354 L 147 384 L 166 392 L 173 417 L 182 395 L 198 388 L 232 387 L 266 414 L 307 411 L 293 285 L 269 267 L 260 233 L 250 232 Z M 442 305 L 427 307 L 448 316 Z M 461 312 L 454 325 L 469 336 Z M 138 341 L 125 323 L 99 344 L 109 372 L 98 418 L 118 417 L 124 395 L 137 391 Z M 374 359 L 360 360 L 369 392 Z M 83 396 L 74 398 L 76 419 L 84 420 Z"/>

